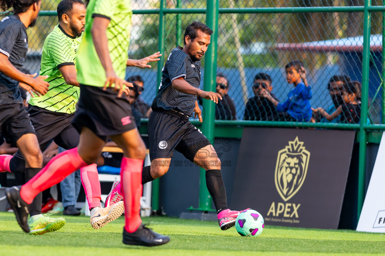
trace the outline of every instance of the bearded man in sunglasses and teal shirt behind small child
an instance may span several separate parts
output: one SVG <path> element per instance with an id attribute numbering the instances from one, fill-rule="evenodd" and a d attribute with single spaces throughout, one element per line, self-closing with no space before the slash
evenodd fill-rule
<path id="1" fill-rule="evenodd" d="M 331 100 L 333 101 L 333 104 L 328 107 L 326 112 L 328 114 L 333 113 L 336 111 L 336 109 L 344 104 L 343 101 L 343 94 L 345 93 L 344 87 L 347 83 L 350 83 L 350 77 L 346 75 L 334 75 L 329 79 L 328 83 L 328 90 L 330 93 Z M 322 123 L 339 123 L 340 122 L 340 116 L 337 116 L 335 119 L 328 120 L 326 117 L 321 118 Z"/>

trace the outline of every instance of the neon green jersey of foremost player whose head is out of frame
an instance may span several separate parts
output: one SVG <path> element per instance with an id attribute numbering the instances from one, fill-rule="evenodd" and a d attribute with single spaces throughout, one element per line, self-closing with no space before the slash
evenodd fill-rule
<path id="1" fill-rule="evenodd" d="M 80 84 L 103 87 L 105 71 L 92 41 L 91 28 L 95 17 L 110 20 L 107 39 L 112 67 L 121 79 L 126 76 L 131 30 L 131 0 L 90 0 L 85 16 L 83 41 L 76 56 L 77 81 Z"/>

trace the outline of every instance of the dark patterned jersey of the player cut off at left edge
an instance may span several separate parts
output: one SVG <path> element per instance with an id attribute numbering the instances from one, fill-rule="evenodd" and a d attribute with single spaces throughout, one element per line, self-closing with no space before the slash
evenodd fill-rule
<path id="1" fill-rule="evenodd" d="M 21 70 L 28 50 L 27 30 L 17 15 L 0 21 L 0 53 Z M 0 104 L 23 103 L 19 82 L 0 72 Z"/>

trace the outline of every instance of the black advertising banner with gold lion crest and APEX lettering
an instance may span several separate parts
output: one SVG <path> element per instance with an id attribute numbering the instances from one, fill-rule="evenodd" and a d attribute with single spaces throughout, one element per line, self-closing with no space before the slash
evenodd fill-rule
<path id="1" fill-rule="evenodd" d="M 231 208 L 268 225 L 338 228 L 355 131 L 243 129 Z"/>

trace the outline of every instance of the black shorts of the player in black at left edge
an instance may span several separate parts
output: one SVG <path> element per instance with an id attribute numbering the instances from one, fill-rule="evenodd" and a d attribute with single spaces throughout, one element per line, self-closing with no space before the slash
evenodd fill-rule
<path id="1" fill-rule="evenodd" d="M 28 112 L 21 103 L 0 105 L 0 130 L 7 143 L 13 145 L 24 134 L 36 134 Z"/>

